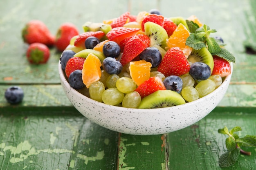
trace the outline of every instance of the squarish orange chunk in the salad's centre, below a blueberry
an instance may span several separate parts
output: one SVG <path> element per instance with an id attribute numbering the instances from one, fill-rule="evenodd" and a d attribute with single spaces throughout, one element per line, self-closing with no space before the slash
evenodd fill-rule
<path id="1" fill-rule="evenodd" d="M 139 86 L 150 77 L 151 63 L 145 60 L 130 62 L 129 70 L 132 80 Z"/>

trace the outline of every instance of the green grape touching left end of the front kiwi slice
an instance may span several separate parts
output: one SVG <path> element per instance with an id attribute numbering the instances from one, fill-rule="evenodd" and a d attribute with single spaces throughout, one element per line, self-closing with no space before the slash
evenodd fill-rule
<path id="1" fill-rule="evenodd" d="M 141 102 L 141 97 L 138 92 L 131 92 L 124 96 L 122 107 L 138 108 Z"/>

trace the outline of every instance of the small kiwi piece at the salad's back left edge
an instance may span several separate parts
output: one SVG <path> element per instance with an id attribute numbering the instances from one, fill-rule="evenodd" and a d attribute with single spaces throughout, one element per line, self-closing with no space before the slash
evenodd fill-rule
<path id="1" fill-rule="evenodd" d="M 83 30 L 88 31 L 102 31 L 107 34 L 112 29 L 110 24 L 96 23 L 96 22 L 85 22 L 83 24 Z"/>

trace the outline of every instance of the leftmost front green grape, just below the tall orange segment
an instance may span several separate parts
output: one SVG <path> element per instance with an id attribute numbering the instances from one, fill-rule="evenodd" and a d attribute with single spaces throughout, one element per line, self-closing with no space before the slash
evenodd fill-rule
<path id="1" fill-rule="evenodd" d="M 98 102 L 102 102 L 102 93 L 105 91 L 105 86 L 101 81 L 92 83 L 89 87 L 90 98 Z"/>

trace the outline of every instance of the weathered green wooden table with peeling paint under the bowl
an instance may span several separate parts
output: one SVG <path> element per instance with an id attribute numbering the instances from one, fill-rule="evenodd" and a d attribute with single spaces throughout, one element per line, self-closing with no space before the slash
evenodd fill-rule
<path id="1" fill-rule="evenodd" d="M 83 117 L 66 98 L 51 49 L 45 65 L 30 65 L 21 29 L 42 20 L 55 34 L 63 22 L 82 32 L 86 21 L 101 22 L 126 11 L 158 8 L 166 17 L 196 15 L 216 29 L 236 57 L 227 94 L 207 117 L 185 129 L 152 136 L 121 134 Z M 256 135 L 255 0 L 10 0 L 0 1 L 0 170 L 254 170 L 256 149 L 229 168 L 218 157 L 226 151 L 223 126 L 241 126 Z M 250 49 L 247 52 L 246 47 Z M 253 51 L 254 50 L 254 51 Z M 250 53 L 250 54 L 249 54 Z M 25 97 L 9 105 L 4 91 L 19 85 Z"/>

